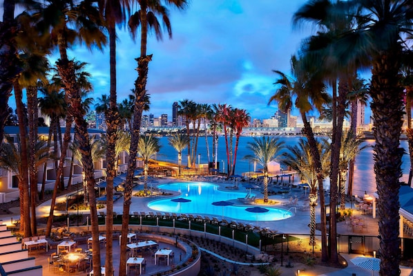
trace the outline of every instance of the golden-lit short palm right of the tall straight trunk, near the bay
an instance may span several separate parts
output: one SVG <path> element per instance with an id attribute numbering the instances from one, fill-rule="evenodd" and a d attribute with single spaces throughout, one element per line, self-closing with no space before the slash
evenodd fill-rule
<path id="1" fill-rule="evenodd" d="M 345 209 L 345 181 L 349 162 L 351 162 L 351 160 L 355 160 L 356 156 L 358 156 L 358 154 L 360 154 L 360 152 L 367 147 L 367 145 L 361 146 L 362 142 L 363 140 L 356 136 L 352 130 L 347 131 L 347 133 L 341 138 L 339 163 L 340 174 L 338 176 L 341 210 Z"/>

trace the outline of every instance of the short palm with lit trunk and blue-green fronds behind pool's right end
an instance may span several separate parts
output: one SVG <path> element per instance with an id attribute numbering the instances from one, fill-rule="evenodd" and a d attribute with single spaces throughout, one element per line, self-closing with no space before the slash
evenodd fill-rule
<path id="1" fill-rule="evenodd" d="M 247 149 L 253 152 L 253 155 L 247 155 L 245 158 L 256 161 L 262 165 L 264 173 L 264 202 L 268 202 L 268 163 L 280 155 L 284 142 L 278 137 L 262 137 L 261 140 L 253 138 L 253 142 L 247 142 Z"/>

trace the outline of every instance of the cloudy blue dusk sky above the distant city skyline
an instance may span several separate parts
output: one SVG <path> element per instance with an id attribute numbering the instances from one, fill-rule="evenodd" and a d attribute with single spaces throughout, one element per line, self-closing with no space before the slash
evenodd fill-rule
<path id="1" fill-rule="evenodd" d="M 291 26 L 291 18 L 305 0 L 192 0 L 186 10 L 170 8 L 173 38 L 148 37 L 147 90 L 155 116 L 167 113 L 173 102 L 227 103 L 247 109 L 252 118 L 269 118 L 276 106 L 267 106 L 274 92 L 277 69 L 289 72 L 289 59 L 310 32 Z M 127 30 L 117 43 L 118 102 L 131 93 L 137 77 L 135 57 L 139 41 Z M 75 48 L 72 57 L 88 62 L 95 91 L 109 93 L 108 49 L 90 53 Z"/>

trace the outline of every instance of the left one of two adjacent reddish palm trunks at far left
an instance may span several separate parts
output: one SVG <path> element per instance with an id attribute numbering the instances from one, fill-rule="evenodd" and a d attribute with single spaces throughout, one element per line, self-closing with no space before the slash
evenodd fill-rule
<path id="1" fill-rule="evenodd" d="M 23 217 L 20 218 L 21 224 L 23 224 L 24 237 L 31 237 L 32 230 L 30 227 L 30 193 L 29 193 L 29 177 L 28 177 L 28 148 L 27 148 L 27 133 L 26 133 L 26 120 L 23 113 L 22 91 L 18 82 L 15 82 L 15 98 L 17 118 L 19 118 L 19 132 L 20 132 L 20 158 L 21 169 L 19 169 L 19 188 L 23 191 L 23 201 L 20 201 L 20 213 Z"/>

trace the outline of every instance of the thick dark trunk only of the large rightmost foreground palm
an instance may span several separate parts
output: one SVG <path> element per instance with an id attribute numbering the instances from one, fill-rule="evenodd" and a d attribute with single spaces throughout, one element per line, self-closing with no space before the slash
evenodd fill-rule
<path id="1" fill-rule="evenodd" d="M 380 237 L 380 275 L 399 275 L 400 239 L 398 190 L 401 172 L 399 148 L 403 125 L 403 89 L 399 86 L 398 45 L 379 53 L 372 62 L 372 114 L 374 123 L 374 172 L 377 184 L 378 235 Z"/>

